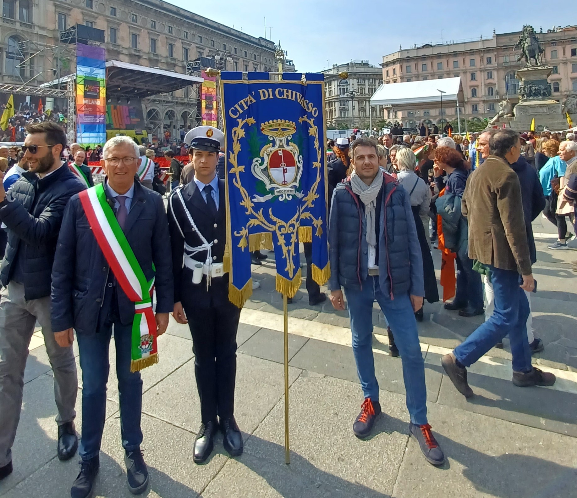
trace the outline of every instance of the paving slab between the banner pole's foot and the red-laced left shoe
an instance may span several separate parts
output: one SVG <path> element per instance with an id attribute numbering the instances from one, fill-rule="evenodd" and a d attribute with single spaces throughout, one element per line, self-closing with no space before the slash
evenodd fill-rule
<path id="1" fill-rule="evenodd" d="M 403 396 L 381 391 L 380 403 L 387 415 L 377 419 L 373 436 L 365 441 L 352 431 L 361 402 L 353 382 L 302 376 L 291 386 L 289 400 L 291 471 L 328 488 L 347 489 L 349 496 L 380 496 L 369 490 L 381 496 L 392 492 L 408 438 Z M 258 426 L 245 454 L 284 465 L 283 403 Z M 239 461 L 244 463 L 242 457 Z"/>

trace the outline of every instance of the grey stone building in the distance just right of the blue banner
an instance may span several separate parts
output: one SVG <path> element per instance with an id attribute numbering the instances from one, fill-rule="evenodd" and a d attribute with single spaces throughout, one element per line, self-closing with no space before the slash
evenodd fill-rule
<path id="1" fill-rule="evenodd" d="M 349 73 L 341 79 L 339 73 Z M 350 128 L 368 128 L 369 112 L 373 121 L 383 116 L 383 110 L 369 107 L 369 99 L 383 83 L 383 72 L 369 61 L 351 61 L 334 65 L 323 71 L 325 75 L 325 110 L 327 125 Z"/>

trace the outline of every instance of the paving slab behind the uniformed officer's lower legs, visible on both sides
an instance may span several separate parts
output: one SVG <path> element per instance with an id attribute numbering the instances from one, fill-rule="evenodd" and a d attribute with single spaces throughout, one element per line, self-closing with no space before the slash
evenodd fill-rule
<path id="1" fill-rule="evenodd" d="M 301 370 L 290 367 L 289 381 Z M 284 367 L 279 363 L 237 354 L 235 418 L 252 433 L 284 394 Z M 194 379 L 194 362 L 186 363 L 143 396 L 143 411 L 175 426 L 197 432 L 200 400 Z"/>

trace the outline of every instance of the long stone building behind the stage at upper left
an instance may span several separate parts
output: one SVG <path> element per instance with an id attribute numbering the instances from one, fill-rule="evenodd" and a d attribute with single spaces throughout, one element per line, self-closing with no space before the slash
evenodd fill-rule
<path id="1" fill-rule="evenodd" d="M 277 68 L 271 40 L 162 0 L 0 1 L 0 83 L 29 81 L 39 86 L 70 72 L 72 50 L 59 43 L 59 35 L 77 23 L 105 32 L 107 60 L 186 73 L 188 61 L 219 55 L 226 70 Z M 33 54 L 37 55 L 31 57 Z M 291 61 L 284 70 L 294 71 Z M 190 91 L 188 88 L 145 99 L 144 116 L 157 134 L 168 129 L 175 136 L 182 125 L 194 125 L 190 122 Z M 196 88 L 192 92 L 196 94 Z"/>

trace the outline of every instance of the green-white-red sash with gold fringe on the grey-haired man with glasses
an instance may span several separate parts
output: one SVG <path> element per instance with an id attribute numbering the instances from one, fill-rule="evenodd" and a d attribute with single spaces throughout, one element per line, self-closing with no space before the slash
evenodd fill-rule
<path id="1" fill-rule="evenodd" d="M 98 246 L 122 290 L 134 303 L 130 371 L 158 363 L 156 321 L 152 311 L 154 278 L 147 281 L 128 240 L 106 202 L 104 184 L 78 194 Z"/>

